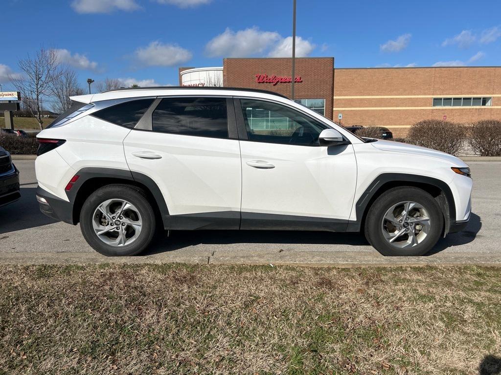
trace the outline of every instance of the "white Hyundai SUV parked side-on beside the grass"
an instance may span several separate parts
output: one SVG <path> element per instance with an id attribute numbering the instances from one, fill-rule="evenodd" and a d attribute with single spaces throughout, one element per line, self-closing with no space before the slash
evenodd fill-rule
<path id="1" fill-rule="evenodd" d="M 150 87 L 72 97 L 38 135 L 37 199 L 105 255 L 164 229 L 364 231 L 420 255 L 469 220 L 457 157 L 359 138 L 285 96 Z"/>

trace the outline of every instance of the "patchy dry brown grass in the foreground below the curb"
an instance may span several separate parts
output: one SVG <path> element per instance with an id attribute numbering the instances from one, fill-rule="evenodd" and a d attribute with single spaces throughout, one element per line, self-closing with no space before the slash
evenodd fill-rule
<path id="1" fill-rule="evenodd" d="M 501 366 L 496 267 L 1 271 L 0 373 L 469 374 Z"/>

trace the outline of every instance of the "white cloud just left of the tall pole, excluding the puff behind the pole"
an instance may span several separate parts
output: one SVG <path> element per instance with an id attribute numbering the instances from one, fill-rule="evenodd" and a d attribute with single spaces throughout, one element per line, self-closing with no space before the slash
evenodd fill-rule
<path id="1" fill-rule="evenodd" d="M 250 27 L 236 32 L 226 28 L 223 33 L 209 40 L 205 53 L 209 57 L 246 57 L 263 54 L 281 40 L 278 32 L 261 31 Z"/>

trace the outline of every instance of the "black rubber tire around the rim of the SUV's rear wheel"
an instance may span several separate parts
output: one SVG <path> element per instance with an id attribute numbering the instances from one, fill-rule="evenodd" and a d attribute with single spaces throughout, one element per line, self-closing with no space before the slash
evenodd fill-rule
<path id="1" fill-rule="evenodd" d="M 110 245 L 102 241 L 94 230 L 94 212 L 108 199 L 124 199 L 133 204 L 140 214 L 141 231 L 130 244 Z M 155 214 L 142 189 L 132 185 L 111 184 L 100 187 L 85 200 L 80 211 L 80 229 L 87 243 L 97 252 L 106 256 L 131 256 L 143 251 L 153 239 L 156 229 Z"/>

